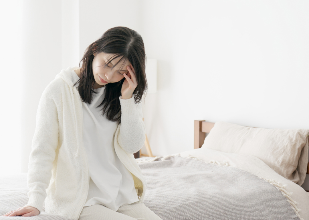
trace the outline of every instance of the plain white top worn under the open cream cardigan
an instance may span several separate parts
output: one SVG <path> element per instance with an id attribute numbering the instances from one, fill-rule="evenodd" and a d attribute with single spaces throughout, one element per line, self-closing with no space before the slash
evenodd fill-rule
<path id="1" fill-rule="evenodd" d="M 74 70 L 71 73 L 75 81 L 78 81 L 79 77 Z M 90 174 L 84 206 L 101 204 L 117 211 L 121 205 L 131 204 L 139 199 L 133 176 L 115 152 L 114 135 L 118 124 L 102 116 L 102 107 L 97 108 L 104 99 L 105 86 L 94 91 L 97 93 L 92 93 L 91 104 L 82 102 L 83 140 Z"/>

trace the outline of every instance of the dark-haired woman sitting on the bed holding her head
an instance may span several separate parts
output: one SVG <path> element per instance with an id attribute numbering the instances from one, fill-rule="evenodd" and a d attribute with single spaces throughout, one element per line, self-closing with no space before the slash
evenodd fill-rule
<path id="1" fill-rule="evenodd" d="M 145 59 L 142 37 L 114 27 L 89 45 L 81 68 L 57 74 L 36 115 L 29 201 L 3 216 L 38 215 L 45 202 L 46 213 L 75 220 L 161 219 L 143 204 L 133 156 L 145 140 Z"/>

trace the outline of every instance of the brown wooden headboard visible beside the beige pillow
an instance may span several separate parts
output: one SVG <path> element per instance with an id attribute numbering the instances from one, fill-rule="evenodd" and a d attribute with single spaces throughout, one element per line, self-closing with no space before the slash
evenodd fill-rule
<path id="1" fill-rule="evenodd" d="M 194 121 L 194 149 L 200 148 L 205 140 L 206 133 L 214 127 L 214 123 L 205 122 L 205 120 Z M 309 174 L 309 163 L 307 166 L 307 174 Z"/>

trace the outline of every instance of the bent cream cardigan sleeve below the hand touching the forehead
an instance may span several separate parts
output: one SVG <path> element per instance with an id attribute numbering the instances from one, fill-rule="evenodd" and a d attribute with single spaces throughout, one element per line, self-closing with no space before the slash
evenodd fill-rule
<path id="1" fill-rule="evenodd" d="M 136 153 L 143 147 L 146 138 L 142 103 L 135 103 L 133 95 L 129 99 L 122 99 L 120 96 L 119 100 L 121 123 L 117 141 L 127 153 Z"/>

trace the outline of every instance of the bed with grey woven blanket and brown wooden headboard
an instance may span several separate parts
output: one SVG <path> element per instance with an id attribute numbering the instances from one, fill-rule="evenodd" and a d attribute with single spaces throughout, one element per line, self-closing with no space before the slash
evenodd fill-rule
<path id="1" fill-rule="evenodd" d="M 201 120 L 194 122 L 193 150 L 136 159 L 147 182 L 145 205 L 163 220 L 309 220 L 309 194 L 296 183 L 303 181 L 304 165 L 299 161 L 306 158 L 308 161 L 308 138 L 298 149 L 298 161 L 294 161 L 297 168 L 301 167 L 298 175 L 294 175 L 294 171 L 287 179 L 283 177 L 285 173 L 280 175 L 280 170 L 274 170 L 280 167 L 271 168 L 267 160 L 265 163 L 257 156 L 224 152 L 224 144 L 221 151 L 211 149 L 214 147 L 212 141 L 223 143 L 228 140 L 229 144 L 233 141 L 233 137 L 215 139 L 215 131 L 224 131 L 216 124 L 219 125 Z M 220 132 L 217 133 L 222 135 Z M 302 132 L 305 137 L 308 131 Z M 295 134 L 299 135 L 299 132 Z M 305 168 L 308 173 L 307 164 Z M 0 215 L 27 203 L 26 181 L 26 173 L 0 178 Z M 20 217 L 0 216 L 0 220 L 15 218 Z M 27 218 L 67 220 L 44 211 Z"/>

